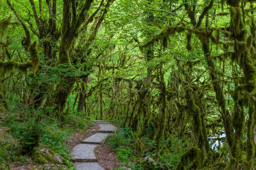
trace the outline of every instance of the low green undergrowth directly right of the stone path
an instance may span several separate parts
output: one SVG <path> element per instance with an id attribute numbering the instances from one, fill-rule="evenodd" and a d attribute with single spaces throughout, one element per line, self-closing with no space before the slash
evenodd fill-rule
<path id="1" fill-rule="evenodd" d="M 107 137 L 106 142 L 118 154 L 118 160 L 126 163 L 131 169 L 145 169 L 144 165 L 140 163 L 134 164 L 145 156 L 153 158 L 157 163 L 168 166 L 169 169 L 175 169 L 182 154 L 189 148 L 189 140 L 178 139 L 170 134 L 166 134 L 166 136 L 167 139 L 162 140 L 159 151 L 157 151 L 156 141 L 151 140 L 147 135 L 138 137 L 142 149 L 141 151 L 136 150 L 134 136 L 128 128 L 118 129 L 115 134 Z"/>

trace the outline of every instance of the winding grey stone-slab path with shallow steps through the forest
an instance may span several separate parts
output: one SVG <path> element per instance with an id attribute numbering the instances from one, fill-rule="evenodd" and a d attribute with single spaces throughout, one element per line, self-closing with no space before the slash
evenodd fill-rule
<path id="1" fill-rule="evenodd" d="M 72 158 L 75 160 L 74 166 L 77 170 L 104 170 L 102 166 L 97 163 L 94 155 L 94 149 L 97 144 L 100 144 L 107 138 L 109 133 L 115 131 L 115 126 L 107 121 L 94 121 L 99 125 L 98 133 L 86 138 L 73 148 L 71 151 Z"/>

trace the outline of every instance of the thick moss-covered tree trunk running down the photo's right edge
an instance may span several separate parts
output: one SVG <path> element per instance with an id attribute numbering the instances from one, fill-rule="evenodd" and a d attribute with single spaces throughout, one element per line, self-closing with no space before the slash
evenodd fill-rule
<path id="1" fill-rule="evenodd" d="M 240 3 L 242 6 L 240 6 Z M 247 120 L 247 166 L 246 169 L 252 169 L 253 158 L 255 157 L 255 145 L 253 142 L 253 128 L 255 127 L 255 112 L 256 112 L 256 69 L 255 69 L 255 60 L 254 52 L 252 53 L 253 47 L 253 33 L 249 37 L 246 36 L 246 28 L 243 20 L 244 10 L 243 10 L 243 1 L 240 0 L 227 0 L 227 4 L 230 6 L 230 27 L 229 31 L 231 32 L 231 37 L 235 41 L 234 52 L 232 53 L 232 58 L 238 62 L 240 67 L 243 69 L 244 74 L 244 90 L 246 92 L 246 97 L 248 98 L 249 118 Z M 241 9 L 242 7 L 242 9 Z M 246 44 L 246 46 L 243 46 Z M 242 47 L 243 46 L 243 47 Z M 254 49 L 255 50 L 255 49 Z M 239 98 L 238 98 L 239 100 Z M 239 102 L 238 102 L 239 103 Z M 243 132 L 243 120 L 244 115 L 238 114 L 239 112 L 234 112 L 233 124 L 236 131 L 236 134 L 242 134 Z M 234 139 L 241 140 L 240 138 Z M 236 144 L 237 145 L 237 144 Z M 238 146 L 233 146 L 233 152 L 236 152 L 235 149 L 239 148 Z M 238 157 L 238 156 L 237 156 Z M 233 159 L 237 159 L 234 157 Z M 237 161 L 232 161 L 230 166 L 238 166 Z M 236 164 L 235 164 L 236 163 Z"/>

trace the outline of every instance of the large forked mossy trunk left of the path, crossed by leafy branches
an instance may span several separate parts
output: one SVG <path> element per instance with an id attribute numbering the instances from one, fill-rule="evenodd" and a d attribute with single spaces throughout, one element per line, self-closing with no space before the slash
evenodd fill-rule
<path id="1" fill-rule="evenodd" d="M 84 23 L 87 13 L 91 7 L 93 0 L 86 0 L 79 15 L 77 15 L 77 5 L 75 0 L 63 0 L 63 24 L 61 28 L 61 40 L 59 48 L 59 64 L 69 65 L 71 67 L 70 52 L 75 36 L 79 27 Z M 71 10 L 72 9 L 72 10 Z M 55 111 L 58 110 L 59 115 L 63 112 L 68 95 L 70 94 L 76 78 L 74 76 L 66 76 L 56 87 L 57 94 L 53 97 L 56 104 Z M 55 98 L 55 100 L 54 100 Z"/>

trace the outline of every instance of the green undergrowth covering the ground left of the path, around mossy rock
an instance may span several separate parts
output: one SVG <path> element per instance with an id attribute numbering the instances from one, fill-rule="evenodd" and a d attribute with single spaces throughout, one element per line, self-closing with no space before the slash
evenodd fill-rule
<path id="1" fill-rule="evenodd" d="M 9 169 L 8 165 L 11 162 L 26 163 L 37 150 L 46 148 L 64 158 L 63 169 L 65 167 L 72 169 L 71 155 L 66 147 L 68 139 L 72 137 L 72 133 L 85 131 L 93 123 L 76 113 L 65 116 L 65 122 L 62 123 L 57 118 L 51 118 L 37 111 L 33 115 L 30 113 L 20 111 L 1 119 L 0 129 L 7 129 L 4 134 L 0 133 L 1 168 L 4 169 L 6 166 Z M 40 121 L 36 119 L 38 116 L 40 116 Z M 40 135 L 39 148 L 35 147 L 36 128 Z M 61 166 L 59 169 L 62 169 Z"/>

